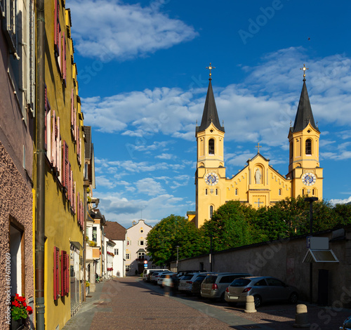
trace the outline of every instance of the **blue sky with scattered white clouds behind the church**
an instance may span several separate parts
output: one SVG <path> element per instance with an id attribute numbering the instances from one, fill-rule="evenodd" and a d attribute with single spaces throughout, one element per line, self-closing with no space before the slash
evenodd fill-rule
<path id="1" fill-rule="evenodd" d="M 99 209 L 150 225 L 195 209 L 196 122 L 211 62 L 227 177 L 256 145 L 288 173 L 305 63 L 324 199 L 351 201 L 351 2 L 67 0 Z"/>

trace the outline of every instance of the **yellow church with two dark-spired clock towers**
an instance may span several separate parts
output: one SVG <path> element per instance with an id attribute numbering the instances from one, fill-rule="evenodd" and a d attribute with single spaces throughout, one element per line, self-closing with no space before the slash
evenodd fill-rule
<path id="1" fill-rule="evenodd" d="M 221 205 L 230 200 L 251 204 L 255 208 L 272 206 L 286 197 L 308 195 L 323 198 L 323 169 L 319 167 L 319 129 L 314 123 L 307 93 L 305 65 L 303 88 L 293 127 L 289 128 L 289 172 L 282 176 L 260 154 L 247 161 L 244 169 L 227 178 L 224 163 L 224 126 L 213 96 L 211 69 L 204 112 L 196 127 L 197 171 L 196 211 L 188 212 L 189 220 L 201 227 Z"/>

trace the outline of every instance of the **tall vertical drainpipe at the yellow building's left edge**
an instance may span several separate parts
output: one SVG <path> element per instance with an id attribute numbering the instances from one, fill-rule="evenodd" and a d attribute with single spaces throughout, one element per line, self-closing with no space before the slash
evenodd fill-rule
<path id="1" fill-rule="evenodd" d="M 37 207 L 35 226 L 35 311 L 37 330 L 45 329 L 45 15 L 44 0 L 37 0 Z"/>

